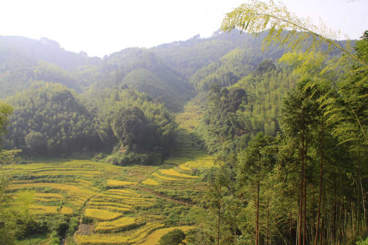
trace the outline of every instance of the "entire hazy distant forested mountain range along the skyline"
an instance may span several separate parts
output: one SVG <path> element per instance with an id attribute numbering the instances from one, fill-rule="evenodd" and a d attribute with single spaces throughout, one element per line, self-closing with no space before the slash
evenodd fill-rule
<path id="1" fill-rule="evenodd" d="M 126 48 L 103 60 L 64 51 L 47 38 L 1 37 L 0 96 L 12 95 L 38 80 L 79 92 L 128 87 L 176 111 L 195 95 L 194 88 L 208 91 L 212 83 L 234 84 L 263 59 L 279 58 L 282 50 L 278 48 L 261 51 L 264 36 L 216 32 L 210 38 L 195 36 L 150 49 Z"/>

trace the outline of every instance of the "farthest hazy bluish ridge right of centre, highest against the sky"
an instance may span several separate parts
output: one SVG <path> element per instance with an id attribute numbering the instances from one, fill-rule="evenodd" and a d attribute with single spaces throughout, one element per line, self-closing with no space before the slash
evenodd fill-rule
<path id="1" fill-rule="evenodd" d="M 226 70 L 226 65 L 230 65 L 231 67 L 236 67 L 236 72 L 233 71 L 234 73 L 237 73 L 238 71 L 244 72 L 241 71 L 241 69 L 244 68 L 241 66 L 241 63 L 245 60 L 242 60 L 242 55 L 237 54 L 237 50 L 240 51 L 240 54 L 243 52 L 249 52 L 262 55 L 259 51 L 262 45 L 262 39 L 266 35 L 261 34 L 259 38 L 254 38 L 249 34 L 243 33 L 242 35 L 239 35 L 239 33 L 240 32 L 238 30 L 234 30 L 230 33 L 221 33 L 220 31 L 216 31 L 210 38 L 200 38 L 199 35 L 196 35 L 186 41 L 162 44 L 157 47 L 153 47 L 151 50 L 159 57 L 162 57 L 165 63 L 174 67 L 186 78 L 191 78 L 192 75 L 201 68 L 204 68 L 203 71 L 210 71 L 212 73 L 215 69 L 212 70 L 208 68 L 214 67 L 213 65 L 215 64 L 222 64 L 225 60 L 233 60 L 236 65 L 232 65 L 230 62 L 225 61 L 224 66 L 222 66 L 222 71 Z M 252 50 L 256 50 L 256 52 L 253 52 Z M 282 53 L 281 51 L 277 51 L 280 54 L 274 56 L 275 51 L 272 48 L 270 48 L 270 51 L 273 53 L 270 55 L 272 59 L 280 57 Z M 231 54 L 226 58 L 226 54 L 228 53 Z M 250 57 L 255 58 L 257 56 Z M 264 58 L 261 58 L 261 60 L 263 59 Z M 261 60 L 256 62 L 255 65 L 257 66 Z M 227 64 L 225 65 L 225 63 Z M 208 75 L 209 74 L 205 76 Z"/>

